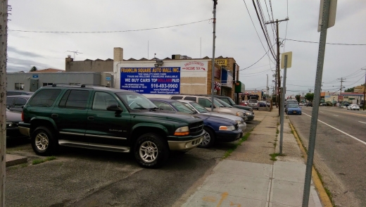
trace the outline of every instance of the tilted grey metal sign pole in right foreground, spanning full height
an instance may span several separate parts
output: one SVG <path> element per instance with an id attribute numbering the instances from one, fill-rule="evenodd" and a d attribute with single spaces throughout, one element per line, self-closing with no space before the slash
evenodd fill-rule
<path id="1" fill-rule="evenodd" d="M 324 5 L 322 8 L 323 16 L 322 16 L 322 25 L 321 25 L 321 30 L 320 30 L 319 51 L 317 54 L 317 73 L 315 76 L 313 112 L 311 115 L 311 124 L 310 124 L 308 161 L 306 162 L 305 183 L 304 183 L 304 190 L 303 190 L 303 207 L 308 207 L 308 205 L 309 205 L 311 172 L 313 170 L 315 138 L 317 135 L 317 117 L 318 117 L 318 113 L 319 113 L 320 87 L 322 84 L 325 43 L 327 40 L 327 28 L 328 28 L 328 20 L 329 20 L 329 8 L 330 8 L 330 0 L 324 0 Z"/>

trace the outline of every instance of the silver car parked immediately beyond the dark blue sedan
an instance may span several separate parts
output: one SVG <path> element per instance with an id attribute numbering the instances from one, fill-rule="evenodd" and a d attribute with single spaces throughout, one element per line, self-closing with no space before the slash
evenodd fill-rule
<path id="1" fill-rule="evenodd" d="M 189 100 L 177 100 L 182 102 L 185 106 L 190 108 L 192 111 L 195 111 L 196 113 L 206 114 L 206 115 L 213 115 L 218 116 L 222 118 L 228 118 L 230 120 L 234 120 L 236 123 L 238 123 L 239 128 L 244 132 L 246 130 L 246 123 L 245 120 L 242 118 L 236 116 L 236 115 L 230 115 L 227 113 L 217 113 L 217 112 L 210 112 L 205 107 L 201 106 L 196 101 L 189 101 Z"/>

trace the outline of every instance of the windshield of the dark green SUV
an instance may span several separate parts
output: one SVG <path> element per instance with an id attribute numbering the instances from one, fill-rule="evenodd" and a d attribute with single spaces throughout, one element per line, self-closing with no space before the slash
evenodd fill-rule
<path id="1" fill-rule="evenodd" d="M 151 109 L 157 108 L 153 102 L 141 94 L 135 92 L 115 93 L 131 109 Z"/>

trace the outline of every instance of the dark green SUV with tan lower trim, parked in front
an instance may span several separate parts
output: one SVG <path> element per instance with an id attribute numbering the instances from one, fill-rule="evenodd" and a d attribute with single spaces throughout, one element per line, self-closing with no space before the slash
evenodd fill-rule
<path id="1" fill-rule="evenodd" d="M 42 87 L 25 104 L 22 118 L 19 130 L 40 156 L 56 153 L 60 145 L 132 152 L 145 168 L 165 163 L 170 151 L 194 149 L 205 134 L 200 118 L 163 113 L 141 94 L 108 87 Z"/>

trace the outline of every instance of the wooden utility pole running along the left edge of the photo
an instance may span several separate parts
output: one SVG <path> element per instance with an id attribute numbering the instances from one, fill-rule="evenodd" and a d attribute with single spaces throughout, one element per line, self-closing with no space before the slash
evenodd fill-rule
<path id="1" fill-rule="evenodd" d="M 0 3 L 0 206 L 5 206 L 5 168 L 6 168 L 6 48 L 8 46 L 8 0 Z"/>

